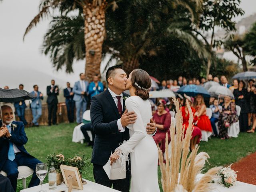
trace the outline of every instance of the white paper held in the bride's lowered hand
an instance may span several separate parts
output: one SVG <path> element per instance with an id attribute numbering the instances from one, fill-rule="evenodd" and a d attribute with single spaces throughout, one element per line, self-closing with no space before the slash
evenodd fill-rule
<path id="1" fill-rule="evenodd" d="M 111 180 L 126 178 L 126 170 L 122 170 L 119 160 L 113 163 L 112 166 L 110 166 L 110 160 L 108 160 L 106 165 L 103 166 L 103 169 Z"/>

